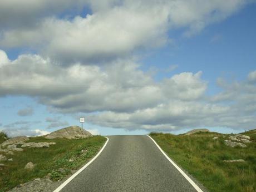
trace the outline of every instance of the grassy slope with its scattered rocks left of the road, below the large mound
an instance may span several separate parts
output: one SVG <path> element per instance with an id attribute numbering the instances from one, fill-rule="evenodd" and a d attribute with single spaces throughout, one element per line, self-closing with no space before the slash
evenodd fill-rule
<path id="1" fill-rule="evenodd" d="M 80 132 L 81 128 L 77 127 L 77 131 Z M 27 188 L 24 183 L 32 180 L 33 190 L 26 191 L 47 191 L 44 188 L 48 188 L 53 181 L 65 178 L 95 156 L 106 141 L 105 137 L 92 136 L 90 133 L 88 135 L 90 137 L 82 139 L 23 136 L 9 140 L 4 139 L 6 135 L 2 136 L 0 191 L 7 191 L 16 186 L 12 191 L 23 191 L 21 186 Z M 43 180 L 45 183 L 42 183 Z"/>

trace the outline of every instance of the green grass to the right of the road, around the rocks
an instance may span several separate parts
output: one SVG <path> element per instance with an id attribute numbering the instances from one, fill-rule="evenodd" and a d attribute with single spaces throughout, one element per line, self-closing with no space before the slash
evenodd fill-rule
<path id="1" fill-rule="evenodd" d="M 171 135 L 153 132 L 150 136 L 171 159 L 209 191 L 255 192 L 256 132 L 243 134 L 253 140 L 247 148 L 225 146 L 224 140 L 229 135 L 218 133 Z M 219 139 L 213 140 L 214 136 Z M 223 162 L 234 159 L 244 159 L 245 163 Z"/>

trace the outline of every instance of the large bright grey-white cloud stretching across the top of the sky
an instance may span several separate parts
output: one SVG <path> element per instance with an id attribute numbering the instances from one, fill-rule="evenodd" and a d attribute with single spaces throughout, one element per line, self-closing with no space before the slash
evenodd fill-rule
<path id="1" fill-rule="evenodd" d="M 39 2 L 25 1 L 25 4 L 30 3 L 31 6 L 15 7 L 21 9 L 18 13 L 28 13 L 31 17 L 38 9 L 47 10 L 51 7 L 52 11 L 55 7 L 67 8 L 72 2 L 75 5 L 82 3 L 83 6 L 89 6 L 92 13 L 73 19 L 50 17 L 50 14 L 42 18 L 38 16 L 41 19 L 35 21 L 36 24 L 31 27 L 2 31 L 0 45 L 33 47 L 33 50 L 55 58 L 61 63 L 83 61 L 83 64 L 88 64 L 92 61 L 105 62 L 116 57 L 127 57 L 137 50 L 165 45 L 171 38 L 168 37 L 168 31 L 176 28 L 185 28 L 185 36 L 194 35 L 208 24 L 232 15 L 250 1 Z M 1 12 L 0 9 L 0 13 L 3 14 L 0 18 L 6 18 L 10 13 L 6 13 L 6 10 L 11 8 L 12 3 L 1 1 L 0 7 L 1 4 L 5 11 Z M 27 12 L 23 7 L 29 7 L 30 11 Z M 19 14 L 17 17 L 20 17 Z M 3 23 L 0 21 L 0 24 L 1 22 Z"/>

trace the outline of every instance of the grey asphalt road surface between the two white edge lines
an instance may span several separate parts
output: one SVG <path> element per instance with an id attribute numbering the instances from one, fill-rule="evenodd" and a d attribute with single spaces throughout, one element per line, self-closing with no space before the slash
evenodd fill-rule
<path id="1" fill-rule="evenodd" d="M 108 136 L 104 151 L 61 192 L 196 191 L 147 136 Z"/>

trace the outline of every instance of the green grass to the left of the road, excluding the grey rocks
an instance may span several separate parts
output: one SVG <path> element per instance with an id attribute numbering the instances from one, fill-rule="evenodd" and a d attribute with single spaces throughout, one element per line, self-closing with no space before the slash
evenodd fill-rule
<path id="1" fill-rule="evenodd" d="M 13 158 L 13 161 L 4 162 L 6 166 L 0 171 L 0 191 L 7 191 L 35 178 L 43 178 L 47 174 L 52 180 L 60 180 L 95 156 L 105 141 L 106 138 L 102 136 L 77 140 L 31 137 L 27 142 L 56 142 L 56 145 L 42 149 L 24 147 L 24 151 L 14 152 L 14 155 L 3 154 Z M 81 150 L 87 152 L 82 153 Z M 74 161 L 68 162 L 69 159 Z M 24 169 L 29 161 L 36 165 L 31 171 Z"/>

